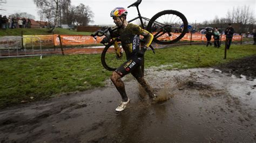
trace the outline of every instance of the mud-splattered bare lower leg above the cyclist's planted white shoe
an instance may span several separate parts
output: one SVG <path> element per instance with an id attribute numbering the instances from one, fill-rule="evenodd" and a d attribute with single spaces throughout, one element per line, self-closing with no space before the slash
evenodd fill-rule
<path id="1" fill-rule="evenodd" d="M 116 71 L 113 71 L 111 81 L 116 86 L 118 92 L 122 96 L 123 102 L 126 102 L 128 100 L 128 97 L 125 92 L 124 82 L 121 80 L 121 76 L 117 74 Z"/>

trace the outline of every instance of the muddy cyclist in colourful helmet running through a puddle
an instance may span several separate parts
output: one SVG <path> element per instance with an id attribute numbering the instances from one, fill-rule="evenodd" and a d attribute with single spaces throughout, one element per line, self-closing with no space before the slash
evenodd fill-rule
<path id="1" fill-rule="evenodd" d="M 114 23 L 118 27 L 117 31 L 114 31 L 111 37 L 120 36 L 127 59 L 126 62 L 113 71 L 111 76 L 111 81 L 122 96 L 122 102 L 116 108 L 116 111 L 123 111 L 130 102 L 130 99 L 125 92 L 124 82 L 121 80 L 123 76 L 129 73 L 137 79 L 152 100 L 156 101 L 157 99 L 157 96 L 153 94 L 150 85 L 144 80 L 142 69 L 140 68 L 143 61 L 143 55 L 147 47 L 150 46 L 153 40 L 153 35 L 138 25 L 128 23 L 126 21 L 127 13 L 126 9 L 121 7 L 113 9 L 110 13 L 110 16 L 113 17 Z M 139 49 L 139 35 L 143 35 L 146 39 L 142 49 Z"/>

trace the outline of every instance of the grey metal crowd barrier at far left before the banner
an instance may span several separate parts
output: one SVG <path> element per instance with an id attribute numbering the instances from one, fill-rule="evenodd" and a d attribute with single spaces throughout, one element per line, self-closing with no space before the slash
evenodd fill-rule
<path id="1" fill-rule="evenodd" d="M 39 42 L 35 45 L 33 39 L 41 41 L 39 37 L 25 37 L 31 38 L 30 44 L 23 44 L 24 37 L 8 36 L 0 37 L 0 58 L 22 57 L 22 56 L 41 56 L 42 59 L 42 45 Z"/>

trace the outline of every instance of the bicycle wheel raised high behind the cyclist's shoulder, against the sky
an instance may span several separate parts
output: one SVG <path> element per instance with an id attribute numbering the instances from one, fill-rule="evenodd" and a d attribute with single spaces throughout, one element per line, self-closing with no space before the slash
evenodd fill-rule
<path id="1" fill-rule="evenodd" d="M 187 26 L 187 19 L 182 13 L 175 10 L 164 10 L 150 19 L 147 31 L 154 35 L 154 42 L 167 45 L 183 38 L 187 32 Z"/>

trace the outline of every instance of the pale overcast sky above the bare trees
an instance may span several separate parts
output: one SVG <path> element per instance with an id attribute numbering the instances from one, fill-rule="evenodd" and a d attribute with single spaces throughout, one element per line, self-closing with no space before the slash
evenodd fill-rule
<path id="1" fill-rule="evenodd" d="M 1 3 L 0 11 L 1 15 L 10 15 L 15 12 L 27 12 L 33 16 L 36 16 L 36 20 L 39 20 L 37 15 L 36 5 L 33 0 L 0 0 L 6 1 Z M 110 17 L 110 11 L 113 8 L 122 6 L 127 8 L 130 4 L 136 2 L 136 0 L 71 0 L 72 5 L 89 5 L 94 13 L 93 20 L 95 23 L 92 25 L 113 24 L 113 20 Z M 195 22 L 204 22 L 204 20 L 212 20 L 215 16 L 226 17 L 228 10 L 232 10 L 233 7 L 249 5 L 251 11 L 256 9 L 255 0 L 142 0 L 139 5 L 139 10 L 142 16 L 151 18 L 157 12 L 162 10 L 177 10 L 185 15 L 188 23 L 194 24 Z M 127 9 L 127 19 L 137 17 L 137 10 L 135 7 Z"/>

